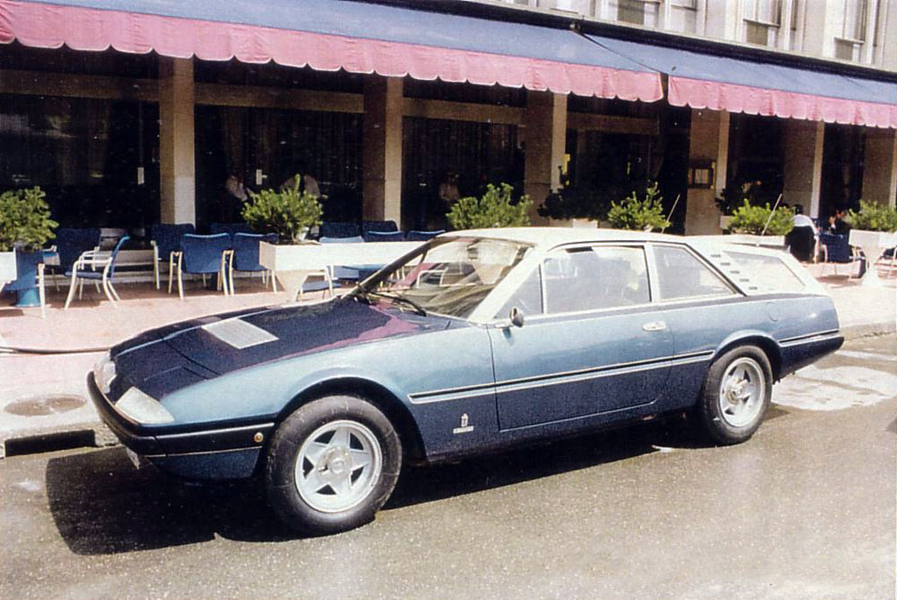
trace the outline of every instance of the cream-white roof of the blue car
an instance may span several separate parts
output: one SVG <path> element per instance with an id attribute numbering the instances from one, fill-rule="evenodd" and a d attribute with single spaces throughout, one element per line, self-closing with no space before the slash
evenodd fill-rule
<path id="1" fill-rule="evenodd" d="M 630 231 L 626 229 L 596 229 L 579 227 L 498 227 L 493 229 L 465 229 L 451 231 L 442 236 L 476 236 L 492 237 L 534 244 L 544 249 L 561 244 L 577 244 L 586 242 L 673 242 L 675 244 L 687 243 L 683 236 L 666 236 L 664 234 L 652 234 L 645 231 Z M 440 237 L 442 237 L 440 236 Z"/>

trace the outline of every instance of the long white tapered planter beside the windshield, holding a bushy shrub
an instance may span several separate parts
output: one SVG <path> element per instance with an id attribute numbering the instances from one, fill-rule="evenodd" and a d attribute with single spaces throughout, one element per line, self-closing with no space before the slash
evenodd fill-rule
<path id="1" fill-rule="evenodd" d="M 423 242 L 292 245 L 259 242 L 258 262 L 274 273 L 292 299 L 300 294 L 310 275 L 318 275 L 335 266 L 379 269 L 421 244 Z"/>

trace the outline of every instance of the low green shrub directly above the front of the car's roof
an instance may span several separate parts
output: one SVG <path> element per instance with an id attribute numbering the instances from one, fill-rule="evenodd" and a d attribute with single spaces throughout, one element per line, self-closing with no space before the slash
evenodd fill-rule
<path id="1" fill-rule="evenodd" d="M 482 198 L 461 198 L 446 214 L 448 225 L 453 229 L 529 225 L 529 210 L 533 202 L 526 194 L 520 196 L 517 202 L 511 201 L 513 189 L 509 184 L 501 184 L 501 188 L 489 184 Z"/>

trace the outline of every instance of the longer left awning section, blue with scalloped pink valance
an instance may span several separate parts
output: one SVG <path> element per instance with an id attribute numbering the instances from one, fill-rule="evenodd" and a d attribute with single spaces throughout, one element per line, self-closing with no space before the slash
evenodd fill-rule
<path id="1" fill-rule="evenodd" d="M 341 11 L 343 15 L 338 14 Z M 193 16 L 186 18 L 186 13 Z M 236 15 L 234 20 L 239 22 L 213 19 L 213 15 Z M 275 24 L 265 24 L 266 18 Z M 402 18 L 415 22 L 396 22 Z M 112 47 L 139 54 L 155 50 L 162 56 L 215 61 L 236 57 L 245 63 L 274 60 L 320 71 L 342 68 L 350 73 L 439 78 L 599 98 L 654 101 L 663 97 L 659 73 L 571 31 L 378 4 L 0 0 L 0 42 L 13 39 L 28 47 L 65 45 L 94 51 Z M 510 47 L 519 52 L 504 52 Z"/>

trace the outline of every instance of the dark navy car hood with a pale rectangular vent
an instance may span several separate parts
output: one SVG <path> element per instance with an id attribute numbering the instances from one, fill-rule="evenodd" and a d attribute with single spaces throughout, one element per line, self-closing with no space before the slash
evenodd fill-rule
<path id="1" fill-rule="evenodd" d="M 185 371 L 198 381 L 289 356 L 445 329 L 448 321 L 403 313 L 388 304 L 338 298 L 183 321 L 146 331 L 113 347 L 110 354 L 118 372 L 133 385 L 161 373 Z"/>

